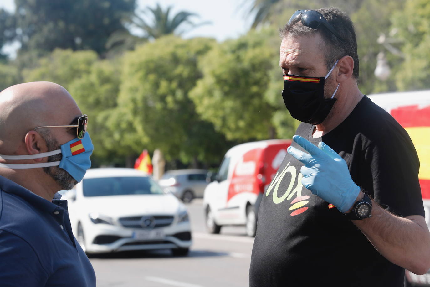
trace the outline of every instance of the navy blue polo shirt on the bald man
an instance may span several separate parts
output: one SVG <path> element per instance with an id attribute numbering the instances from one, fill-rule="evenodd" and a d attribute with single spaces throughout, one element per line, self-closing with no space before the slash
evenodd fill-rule
<path id="1" fill-rule="evenodd" d="M 72 234 L 67 201 L 52 202 L 0 176 L 0 286 L 95 287 Z"/>

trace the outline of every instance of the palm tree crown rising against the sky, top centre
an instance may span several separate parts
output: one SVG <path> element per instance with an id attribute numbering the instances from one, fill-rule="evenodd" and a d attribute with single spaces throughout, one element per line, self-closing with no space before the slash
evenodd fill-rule
<path id="1" fill-rule="evenodd" d="M 153 18 L 152 23 L 148 24 L 147 20 L 136 14 L 135 18 L 133 19 L 133 24 L 136 26 L 136 28 L 139 28 L 144 31 L 145 34 L 147 34 L 148 38 L 153 39 L 157 39 L 163 35 L 168 34 L 181 35 L 185 31 L 189 31 L 201 25 L 209 24 L 209 22 L 195 24 L 194 22 L 190 21 L 190 17 L 198 15 L 196 13 L 191 13 L 187 11 L 181 11 L 173 17 L 169 17 L 171 10 L 172 6 L 169 6 L 166 8 L 165 11 L 163 11 L 159 3 L 157 3 L 157 7 L 155 7 L 154 9 L 148 6 L 141 12 L 144 15 L 151 14 Z M 178 27 L 184 23 L 187 23 L 190 26 L 187 28 L 187 30 L 178 31 Z"/>

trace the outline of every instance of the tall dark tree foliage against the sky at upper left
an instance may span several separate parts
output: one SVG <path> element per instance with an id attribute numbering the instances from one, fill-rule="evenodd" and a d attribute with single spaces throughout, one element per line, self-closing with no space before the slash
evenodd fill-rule
<path id="1" fill-rule="evenodd" d="M 114 31 L 135 9 L 135 0 L 15 0 L 22 51 L 92 49 L 105 52 Z"/>

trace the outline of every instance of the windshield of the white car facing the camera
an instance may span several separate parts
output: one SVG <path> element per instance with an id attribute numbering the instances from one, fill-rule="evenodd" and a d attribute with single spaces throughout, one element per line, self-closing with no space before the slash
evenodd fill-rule
<path id="1" fill-rule="evenodd" d="M 83 196 L 128 194 L 163 194 L 163 191 L 152 179 L 143 176 L 101 177 L 83 180 Z"/>

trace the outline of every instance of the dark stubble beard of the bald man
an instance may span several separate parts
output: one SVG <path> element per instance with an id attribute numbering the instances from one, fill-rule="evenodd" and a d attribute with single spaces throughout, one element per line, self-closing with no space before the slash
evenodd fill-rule
<path id="1" fill-rule="evenodd" d="M 55 138 L 49 135 L 49 133 L 44 133 L 43 138 L 46 142 L 46 147 L 48 151 L 55 151 L 60 149 L 60 144 Z M 48 157 L 48 162 L 60 161 L 63 158 L 62 154 L 55 154 Z M 66 170 L 55 166 L 55 167 L 43 167 L 43 171 L 51 176 L 51 178 L 61 187 L 63 190 L 72 189 L 77 185 L 76 179 L 74 179 Z"/>

